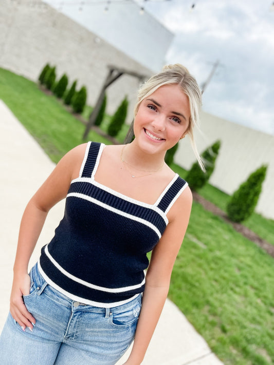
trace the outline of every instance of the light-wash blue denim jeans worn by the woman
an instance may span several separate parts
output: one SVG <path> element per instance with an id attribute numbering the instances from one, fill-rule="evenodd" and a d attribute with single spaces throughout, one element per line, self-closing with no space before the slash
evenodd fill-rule
<path id="1" fill-rule="evenodd" d="M 37 264 L 24 296 L 36 320 L 23 332 L 9 313 L 0 337 L 2 365 L 114 365 L 134 339 L 141 295 L 114 308 L 69 299 L 48 285 Z"/>

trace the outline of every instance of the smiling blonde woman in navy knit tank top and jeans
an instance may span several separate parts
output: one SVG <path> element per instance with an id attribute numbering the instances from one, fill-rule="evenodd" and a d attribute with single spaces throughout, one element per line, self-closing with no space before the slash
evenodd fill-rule
<path id="1" fill-rule="evenodd" d="M 188 70 L 164 67 L 139 90 L 133 142 L 72 149 L 32 197 L 0 337 L 3 365 L 112 365 L 134 338 L 124 364 L 142 362 L 192 204 L 165 153 L 188 134 L 203 168 L 193 140 L 200 104 Z M 65 197 L 64 218 L 28 275 L 47 213 Z"/>

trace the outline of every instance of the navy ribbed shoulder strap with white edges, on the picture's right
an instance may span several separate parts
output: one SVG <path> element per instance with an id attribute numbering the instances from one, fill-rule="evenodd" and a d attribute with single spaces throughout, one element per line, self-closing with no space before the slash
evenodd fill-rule
<path id="1" fill-rule="evenodd" d="M 176 174 L 170 185 L 168 185 L 166 191 L 164 191 L 164 194 L 157 205 L 158 208 L 160 208 L 165 214 L 168 214 L 172 205 L 187 186 L 188 183 Z"/>

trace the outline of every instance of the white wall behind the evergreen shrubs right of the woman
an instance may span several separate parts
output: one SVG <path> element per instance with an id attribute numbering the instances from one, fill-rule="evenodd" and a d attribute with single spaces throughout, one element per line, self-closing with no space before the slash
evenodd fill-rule
<path id="1" fill-rule="evenodd" d="M 201 130 L 195 132 L 199 152 L 216 140 L 221 148 L 210 183 L 232 194 L 258 167 L 268 165 L 257 212 L 274 219 L 274 136 L 202 112 Z M 188 139 L 181 140 L 175 162 L 190 169 L 195 161 Z"/>

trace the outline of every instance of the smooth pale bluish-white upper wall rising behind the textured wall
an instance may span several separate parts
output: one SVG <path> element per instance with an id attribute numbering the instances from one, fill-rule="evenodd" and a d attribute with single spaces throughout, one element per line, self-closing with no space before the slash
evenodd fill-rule
<path id="1" fill-rule="evenodd" d="M 154 71 L 163 66 L 174 35 L 149 13 L 144 11 L 140 14 L 140 5 L 133 0 L 112 2 L 109 5 L 105 0 L 83 5 L 79 2 L 76 4 L 75 0 L 66 0 L 61 7 L 60 1 L 44 1 L 141 65 Z"/>

